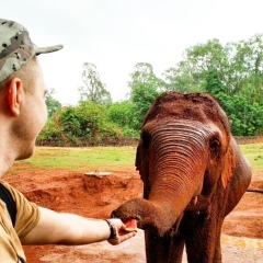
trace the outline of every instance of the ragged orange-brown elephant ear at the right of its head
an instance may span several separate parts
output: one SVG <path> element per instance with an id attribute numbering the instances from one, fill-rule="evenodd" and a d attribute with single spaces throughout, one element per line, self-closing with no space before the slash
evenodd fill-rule
<path id="1" fill-rule="evenodd" d="M 221 173 L 221 183 L 224 188 L 227 187 L 230 178 L 232 176 L 232 169 L 236 167 L 236 160 L 235 160 L 235 155 L 233 155 L 233 149 L 231 145 L 229 145 L 225 162 L 224 162 L 224 168 L 222 168 L 222 173 Z"/>

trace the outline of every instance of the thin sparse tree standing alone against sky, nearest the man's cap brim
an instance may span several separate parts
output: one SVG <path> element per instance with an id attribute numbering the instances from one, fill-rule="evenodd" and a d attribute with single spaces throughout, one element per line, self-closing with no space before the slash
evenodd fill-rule
<path id="1" fill-rule="evenodd" d="M 94 64 L 84 62 L 82 71 L 83 87 L 79 88 L 80 101 L 92 101 L 99 104 L 110 104 L 112 102 L 111 93 L 102 83 L 101 77 Z"/>

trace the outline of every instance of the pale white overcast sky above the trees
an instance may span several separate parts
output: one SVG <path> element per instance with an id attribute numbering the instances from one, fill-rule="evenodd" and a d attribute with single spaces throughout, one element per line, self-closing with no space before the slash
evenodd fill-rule
<path id="1" fill-rule="evenodd" d="M 262 0 L 0 0 L 1 18 L 23 24 L 42 47 L 46 85 L 62 104 L 76 104 L 83 62 L 93 62 L 113 101 L 125 99 L 137 62 L 158 77 L 185 48 L 263 33 Z"/>

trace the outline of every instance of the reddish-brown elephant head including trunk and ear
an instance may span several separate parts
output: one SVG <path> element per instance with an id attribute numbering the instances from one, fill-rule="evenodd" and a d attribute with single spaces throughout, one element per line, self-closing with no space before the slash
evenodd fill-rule
<path id="1" fill-rule="evenodd" d="M 209 210 L 218 187 L 227 187 L 235 167 L 228 117 L 206 93 L 160 95 L 148 111 L 136 167 L 144 198 L 121 205 L 113 216 L 164 236 L 185 211 Z"/>

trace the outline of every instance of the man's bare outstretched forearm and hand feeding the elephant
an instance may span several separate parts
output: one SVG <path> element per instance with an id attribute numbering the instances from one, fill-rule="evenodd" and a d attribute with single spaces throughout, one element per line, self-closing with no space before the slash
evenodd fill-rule
<path id="1" fill-rule="evenodd" d="M 111 230 L 108 224 L 102 219 L 90 219 L 73 214 L 56 213 L 39 207 L 41 218 L 24 238 L 22 244 L 88 244 L 107 240 Z M 117 228 L 117 237 L 108 240 L 118 244 L 135 236 L 134 232 L 125 233 L 125 225 L 119 219 L 111 219 Z"/>

